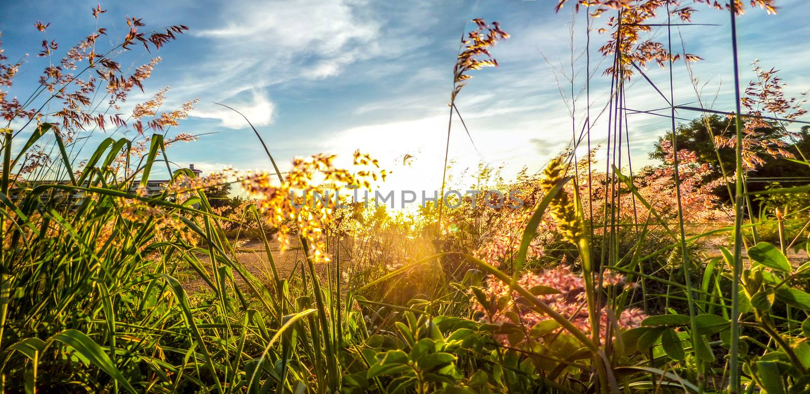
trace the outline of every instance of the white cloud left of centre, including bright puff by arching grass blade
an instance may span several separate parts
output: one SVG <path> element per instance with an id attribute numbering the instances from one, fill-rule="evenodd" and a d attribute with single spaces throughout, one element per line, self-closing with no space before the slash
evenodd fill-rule
<path id="1" fill-rule="evenodd" d="M 192 33 L 211 42 L 207 58 L 189 67 L 180 83 L 183 95 L 203 97 L 192 116 L 245 127 L 236 112 L 207 104 L 216 101 L 238 109 L 254 125 L 270 124 L 275 105 L 266 94 L 269 87 L 335 77 L 381 53 L 375 42 L 380 23 L 365 6 L 364 0 L 229 3 L 218 11 L 219 26 Z"/>

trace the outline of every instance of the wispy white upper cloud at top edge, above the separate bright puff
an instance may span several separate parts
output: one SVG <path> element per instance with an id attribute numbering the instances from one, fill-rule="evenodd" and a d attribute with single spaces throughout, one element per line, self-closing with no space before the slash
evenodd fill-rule
<path id="1" fill-rule="evenodd" d="M 224 70 L 237 84 L 259 74 L 266 84 L 289 78 L 320 79 L 335 76 L 354 61 L 379 52 L 374 40 L 380 23 L 363 13 L 357 0 L 292 0 L 235 2 L 222 12 L 224 26 L 194 33 L 214 42 Z M 252 75 L 246 75 L 245 71 Z"/>

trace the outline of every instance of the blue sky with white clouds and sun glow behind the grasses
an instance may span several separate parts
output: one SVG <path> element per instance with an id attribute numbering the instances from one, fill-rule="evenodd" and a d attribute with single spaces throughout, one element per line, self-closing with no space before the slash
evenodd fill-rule
<path id="1" fill-rule="evenodd" d="M 198 98 L 192 116 L 171 133 L 212 133 L 198 142 L 178 144 L 169 151 L 177 165 L 194 163 L 205 172 L 232 166 L 269 169 L 262 147 L 237 114 L 240 109 L 260 130 L 281 163 L 318 152 L 350 157 L 357 148 L 381 159 L 392 172 L 394 187 L 435 188 L 441 183 L 441 160 L 447 127 L 447 106 L 458 39 L 473 18 L 497 20 L 512 38 L 498 44 L 493 55 L 500 67 L 475 72 L 457 105 L 477 146 L 456 121 L 450 141 L 454 173 L 479 162 L 505 167 L 510 176 L 521 167 L 539 170 L 569 145 L 571 119 L 557 80 L 569 67 L 569 26 L 574 20 L 574 66 L 577 90 L 585 79 L 585 15 L 571 7 L 554 13 L 550 0 L 382 2 L 367 0 L 274 0 L 267 2 L 152 1 L 107 2 L 100 26 L 109 28 L 107 42 L 126 34 L 126 16 L 143 18 L 147 28 L 185 24 L 190 28 L 176 42 L 149 54 L 126 54 L 124 66 L 138 66 L 159 55 L 163 61 L 147 80 L 144 94 L 132 95 L 122 112 L 170 86 L 164 108 Z M 743 83 L 753 78 L 749 64 L 774 66 L 789 84 L 788 95 L 810 87 L 810 26 L 803 0 L 780 0 L 778 15 L 748 10 L 739 19 Z M 69 48 L 96 26 L 90 10 L 96 2 L 0 2 L 0 31 L 10 59 L 30 53 L 12 95 L 26 97 L 36 86 L 45 59 L 39 51 L 43 33 L 36 20 L 51 23 L 49 39 Z M 718 26 L 681 28 L 689 53 L 705 60 L 694 66 L 703 100 L 718 110 L 733 108 L 733 79 L 727 12 L 696 6 L 693 21 Z M 595 19 L 595 28 L 603 19 Z M 666 32 L 652 33 L 665 39 Z M 592 33 L 592 49 L 607 37 Z M 674 43 L 680 52 L 680 36 Z M 60 53 L 61 54 L 61 53 Z M 607 99 L 605 64 L 591 54 L 597 77 L 591 85 L 594 108 Z M 566 71 L 569 72 L 569 71 Z M 650 77 L 668 88 L 668 71 L 650 66 Z M 675 69 L 679 104 L 695 102 L 696 93 L 683 63 Z M 568 90 L 569 87 L 565 86 Z M 714 95 L 717 95 L 716 100 Z M 627 90 L 629 108 L 652 109 L 666 104 L 642 78 Z M 578 124 L 584 119 L 584 96 L 578 102 Z M 682 112 L 681 117 L 696 114 Z M 594 139 L 604 129 L 595 124 Z M 14 125 L 12 125 L 14 127 Z M 649 163 L 646 152 L 667 129 L 667 119 L 633 115 L 629 119 L 634 165 Z M 134 137 L 134 133 L 126 134 Z M 103 138 L 95 135 L 93 138 Z M 120 137 L 120 136 L 119 136 Z M 603 137 L 602 137 L 603 138 Z M 414 159 L 403 165 L 403 157 Z M 457 175 L 458 179 L 458 175 Z"/>

